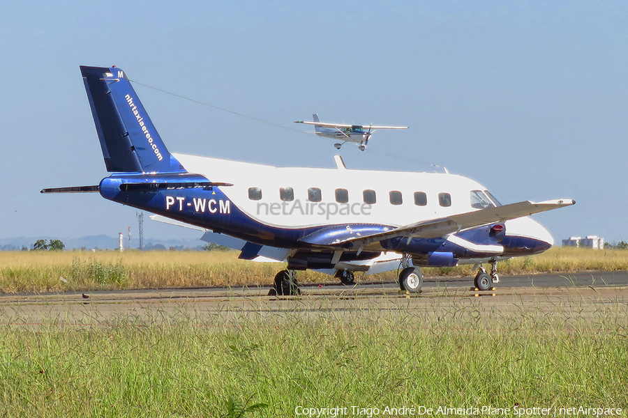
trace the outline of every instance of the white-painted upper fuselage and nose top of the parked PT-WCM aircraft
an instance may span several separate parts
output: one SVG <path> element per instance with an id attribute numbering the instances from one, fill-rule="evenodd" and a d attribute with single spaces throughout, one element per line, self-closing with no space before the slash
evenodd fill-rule
<path id="1" fill-rule="evenodd" d="M 223 192 L 257 222 L 287 229 L 355 223 L 398 227 L 479 210 L 472 206 L 470 194 L 486 191 L 475 180 L 449 173 L 354 170 L 345 169 L 340 163 L 336 169 L 273 167 L 195 155 L 173 155 L 190 172 L 202 174 L 211 181 L 232 183 L 231 187 L 223 187 Z M 292 200 L 282 200 L 281 189 L 289 187 L 292 188 Z M 250 199 L 251 188 L 260 189 L 259 200 Z M 320 201 L 311 201 L 308 190 L 313 188 L 320 189 Z M 347 191 L 346 203 L 336 199 L 337 189 Z M 365 190 L 375 192 L 375 203 L 365 203 Z M 416 204 L 415 193 L 425 194 L 425 201 L 419 201 L 424 205 Z M 449 201 L 447 196 L 443 201 L 443 194 L 450 196 Z M 394 204 L 398 203 L 400 195 L 401 204 Z M 450 203 L 450 206 L 443 203 Z M 508 235 L 539 238 L 553 244 L 546 229 L 530 217 L 513 219 L 507 225 Z"/>

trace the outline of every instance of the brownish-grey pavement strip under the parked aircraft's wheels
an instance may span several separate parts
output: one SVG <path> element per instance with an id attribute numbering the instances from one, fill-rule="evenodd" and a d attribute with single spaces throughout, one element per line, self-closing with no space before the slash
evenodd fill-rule
<path id="1" fill-rule="evenodd" d="M 0 295 L 0 324 L 103 325 L 133 318 L 187 316 L 274 316 L 358 310 L 401 311 L 469 307 L 486 311 L 516 311 L 534 307 L 592 313 L 608 306 L 628 307 L 628 272 L 579 272 L 502 277 L 493 291 L 472 288 L 472 279 L 428 278 L 419 295 L 401 292 L 396 282 L 364 282 L 356 286 L 303 284 L 303 295 L 268 296 L 270 287 L 191 288 L 130 291 L 90 291 Z"/>

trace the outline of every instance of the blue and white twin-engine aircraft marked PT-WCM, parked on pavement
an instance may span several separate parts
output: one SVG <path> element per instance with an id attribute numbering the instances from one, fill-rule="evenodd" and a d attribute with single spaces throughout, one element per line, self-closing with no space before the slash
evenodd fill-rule
<path id="1" fill-rule="evenodd" d="M 401 266 L 399 282 L 421 289 L 423 266 L 491 263 L 475 286 L 499 281 L 497 262 L 545 251 L 551 235 L 528 215 L 571 199 L 500 205 L 484 186 L 449 173 L 271 167 L 170 153 L 128 78 L 116 67 L 81 67 L 96 132 L 112 175 L 99 185 L 42 192 L 100 192 L 204 232 L 239 258 L 285 261 L 276 293 L 298 293 L 294 270 L 353 282 Z"/>

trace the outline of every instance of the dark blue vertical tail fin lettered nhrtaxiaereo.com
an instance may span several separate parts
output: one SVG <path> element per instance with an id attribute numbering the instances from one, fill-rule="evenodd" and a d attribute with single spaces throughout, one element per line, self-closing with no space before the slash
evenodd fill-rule
<path id="1" fill-rule="evenodd" d="M 81 66 L 107 171 L 184 172 L 168 152 L 124 71 Z"/>

